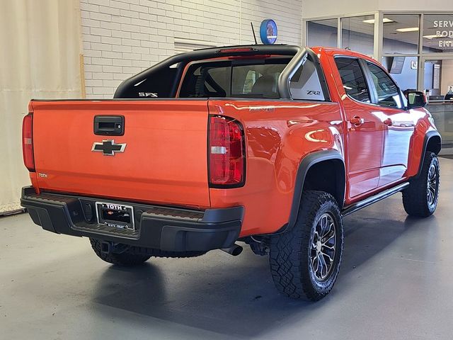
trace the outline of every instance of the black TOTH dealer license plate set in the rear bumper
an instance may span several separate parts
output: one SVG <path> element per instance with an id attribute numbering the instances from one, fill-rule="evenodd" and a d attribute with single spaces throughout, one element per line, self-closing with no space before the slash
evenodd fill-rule
<path id="1" fill-rule="evenodd" d="M 98 224 L 135 230 L 134 208 L 130 205 L 96 202 Z"/>

